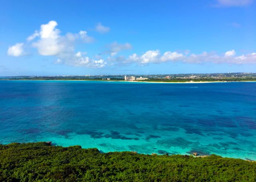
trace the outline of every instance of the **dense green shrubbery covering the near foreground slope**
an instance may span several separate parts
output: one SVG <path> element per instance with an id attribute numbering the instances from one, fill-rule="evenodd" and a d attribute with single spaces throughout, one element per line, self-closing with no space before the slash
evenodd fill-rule
<path id="1" fill-rule="evenodd" d="M 0 145 L 0 181 L 255 182 L 256 162 L 12 143 Z"/>

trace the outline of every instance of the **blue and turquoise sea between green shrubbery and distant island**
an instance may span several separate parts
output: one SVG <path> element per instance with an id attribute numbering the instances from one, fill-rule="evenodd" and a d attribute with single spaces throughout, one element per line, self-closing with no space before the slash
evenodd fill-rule
<path id="1" fill-rule="evenodd" d="M 0 81 L 0 143 L 256 160 L 256 82 Z"/>

